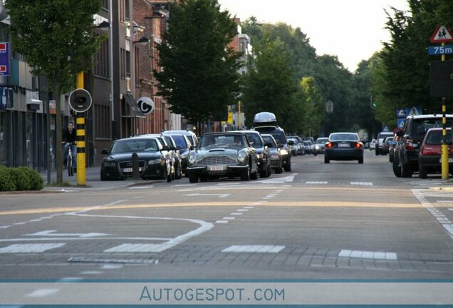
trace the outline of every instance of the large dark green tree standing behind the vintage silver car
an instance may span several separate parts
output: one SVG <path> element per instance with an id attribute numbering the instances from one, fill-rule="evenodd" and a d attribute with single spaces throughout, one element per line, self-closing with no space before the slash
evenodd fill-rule
<path id="1" fill-rule="evenodd" d="M 239 53 L 227 47 L 236 34 L 235 22 L 217 0 L 172 5 L 165 43 L 158 47 L 163 70 L 155 76 L 173 113 L 192 123 L 226 120 L 239 90 Z"/>

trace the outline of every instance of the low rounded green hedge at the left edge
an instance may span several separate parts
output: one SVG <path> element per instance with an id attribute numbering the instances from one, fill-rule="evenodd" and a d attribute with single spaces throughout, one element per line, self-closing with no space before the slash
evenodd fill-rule
<path id="1" fill-rule="evenodd" d="M 28 167 L 6 168 L 0 165 L 0 191 L 42 190 L 41 175 Z"/>

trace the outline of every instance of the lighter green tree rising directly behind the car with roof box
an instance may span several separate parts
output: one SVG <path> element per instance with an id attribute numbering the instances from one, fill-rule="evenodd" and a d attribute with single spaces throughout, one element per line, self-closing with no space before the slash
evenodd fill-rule
<path id="1" fill-rule="evenodd" d="M 279 40 L 264 39 L 255 47 L 258 55 L 244 78 L 244 113 L 247 125 L 254 114 L 269 111 L 276 115 L 279 125 L 288 132 L 301 130 L 303 112 L 301 91 L 298 90 L 291 55 Z"/>

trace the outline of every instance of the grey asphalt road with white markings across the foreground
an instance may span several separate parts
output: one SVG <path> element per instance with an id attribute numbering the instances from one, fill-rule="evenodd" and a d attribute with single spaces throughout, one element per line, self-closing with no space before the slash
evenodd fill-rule
<path id="1" fill-rule="evenodd" d="M 453 192 L 388 156 L 270 178 L 1 195 L 1 279 L 451 279 Z"/>

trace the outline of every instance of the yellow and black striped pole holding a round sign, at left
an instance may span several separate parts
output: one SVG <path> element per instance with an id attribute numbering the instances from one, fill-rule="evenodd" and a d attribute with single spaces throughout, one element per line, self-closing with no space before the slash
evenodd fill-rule
<path id="1" fill-rule="evenodd" d="M 77 74 L 77 88 L 83 88 L 83 72 Z M 83 113 L 77 113 L 75 128 L 77 132 L 77 185 L 85 186 L 85 117 Z"/>

